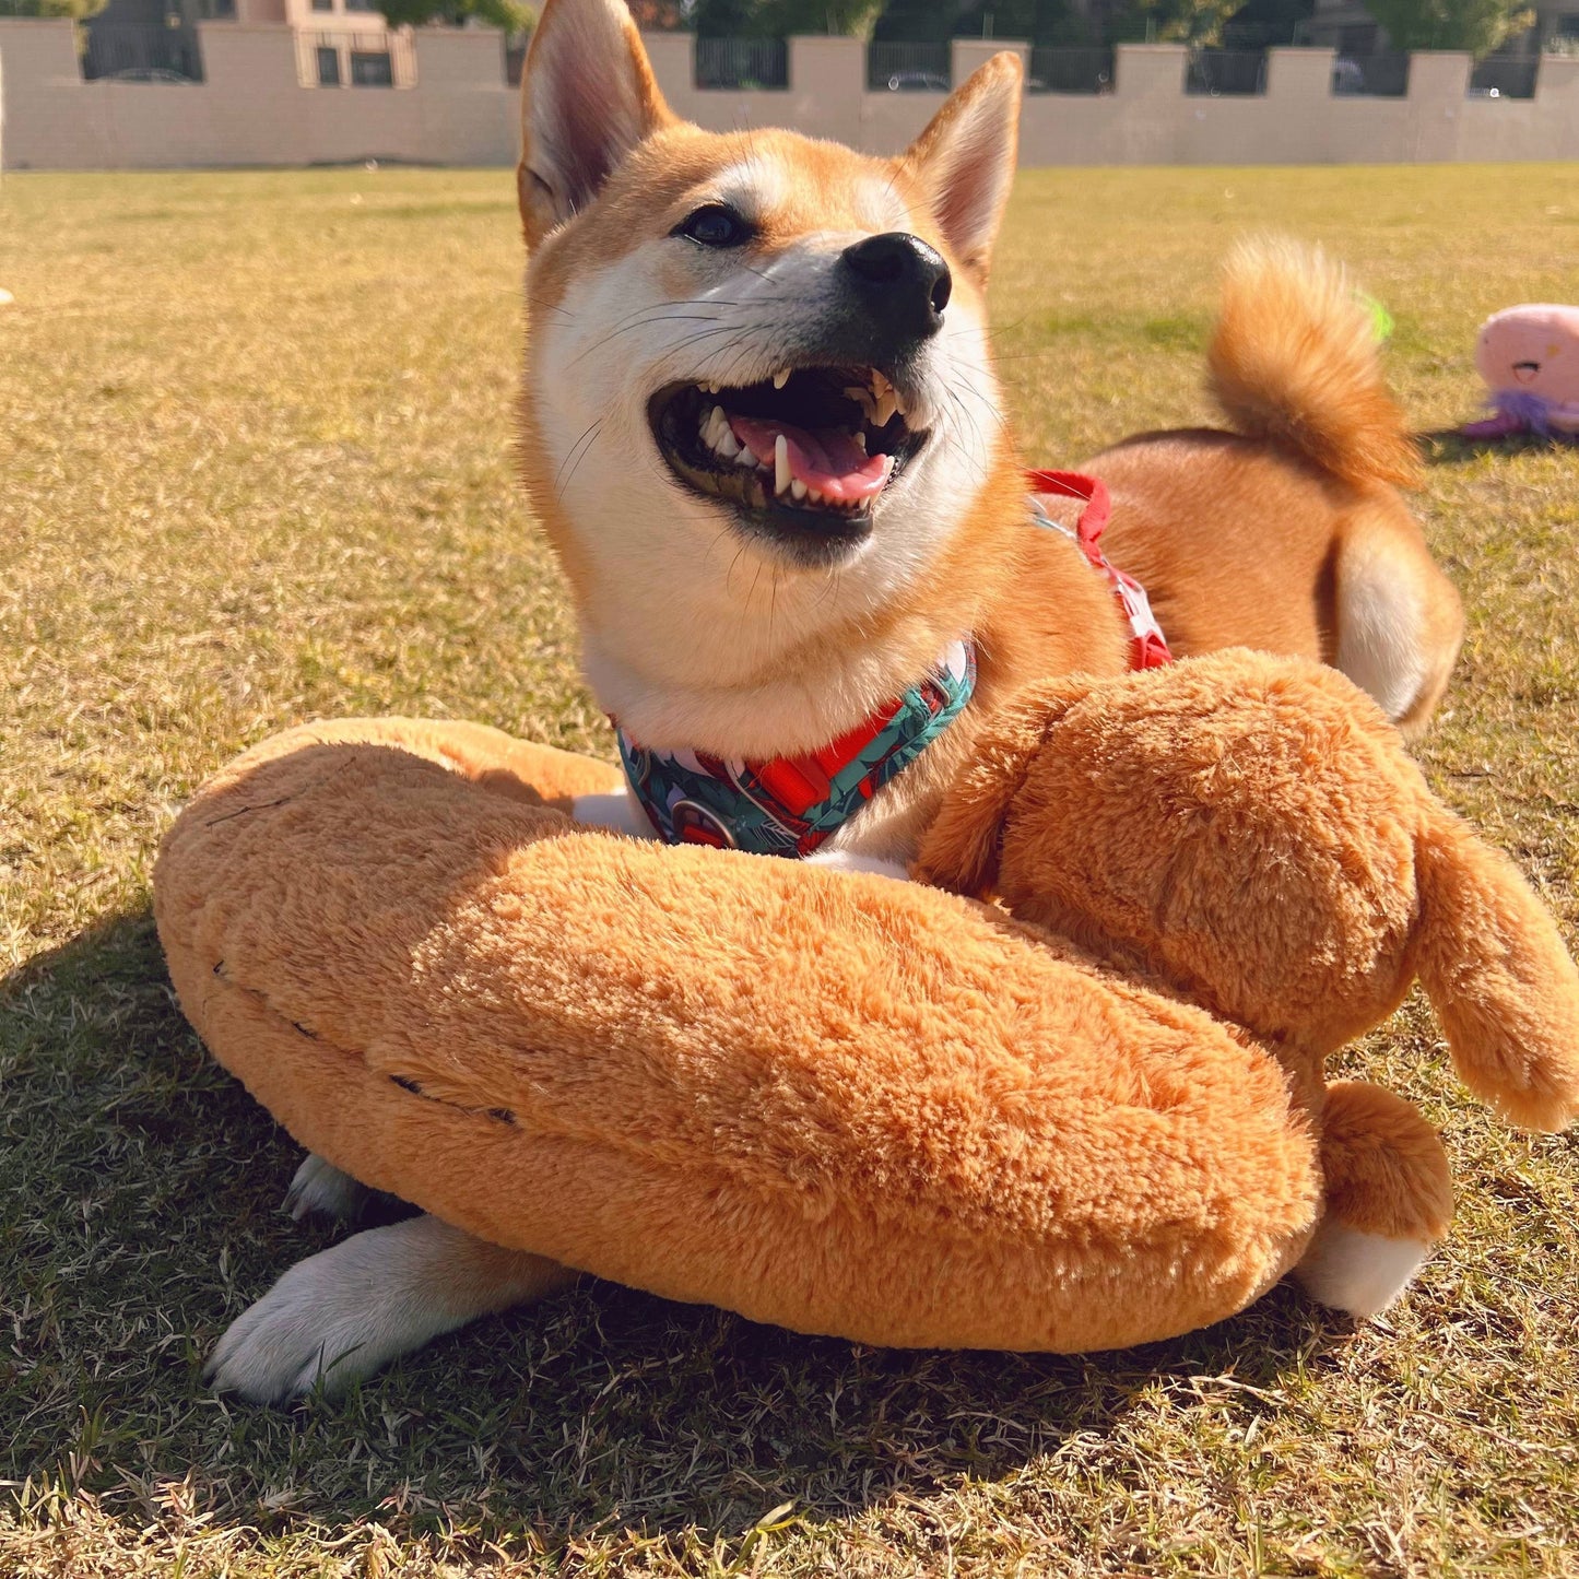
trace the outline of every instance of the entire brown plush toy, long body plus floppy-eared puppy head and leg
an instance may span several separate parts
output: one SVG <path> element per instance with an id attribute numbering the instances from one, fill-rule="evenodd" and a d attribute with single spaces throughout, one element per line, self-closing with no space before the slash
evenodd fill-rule
<path id="1" fill-rule="evenodd" d="M 1322 1061 L 1415 976 L 1472 1090 L 1579 1110 L 1554 924 L 1328 669 L 1022 696 L 922 854 L 1014 914 L 556 808 L 609 782 L 467 725 L 265 742 L 161 853 L 183 1007 L 297 1140 L 478 1240 L 876 1344 L 1127 1345 L 1295 1266 L 1385 1303 L 1446 1161 Z M 221 1345 L 257 1396 L 272 1298 Z"/>

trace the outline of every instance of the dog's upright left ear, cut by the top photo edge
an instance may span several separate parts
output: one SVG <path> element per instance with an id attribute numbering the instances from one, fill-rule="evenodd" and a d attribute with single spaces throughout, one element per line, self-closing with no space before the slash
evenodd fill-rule
<path id="1" fill-rule="evenodd" d="M 625 0 L 548 0 L 521 73 L 516 186 L 527 246 L 584 208 L 643 137 L 673 123 Z"/>

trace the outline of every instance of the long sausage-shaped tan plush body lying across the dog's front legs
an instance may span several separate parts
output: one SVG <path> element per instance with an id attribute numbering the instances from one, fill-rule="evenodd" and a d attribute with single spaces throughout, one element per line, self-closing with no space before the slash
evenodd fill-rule
<path id="1" fill-rule="evenodd" d="M 1314 1228 L 1315 1140 L 1277 1066 L 1202 1011 L 935 889 L 523 804 L 600 764 L 504 736 L 466 758 L 399 720 L 328 733 L 205 790 L 158 910 L 208 1045 L 363 1183 L 676 1300 L 897 1345 L 1187 1331 Z"/>

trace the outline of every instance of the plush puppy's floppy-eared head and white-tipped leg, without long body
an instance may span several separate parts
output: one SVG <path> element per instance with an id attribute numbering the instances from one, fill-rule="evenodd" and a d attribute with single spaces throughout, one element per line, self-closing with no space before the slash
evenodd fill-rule
<path id="1" fill-rule="evenodd" d="M 1448 1227 L 1448 1162 L 1402 1097 L 1328 1053 L 1426 988 L 1464 1083 L 1514 1124 L 1579 1113 L 1579 979 L 1517 868 L 1426 786 L 1334 669 L 1244 651 L 1037 685 L 981 741 L 917 876 L 1241 1026 L 1322 1137 L 1298 1276 L 1385 1306 Z"/>

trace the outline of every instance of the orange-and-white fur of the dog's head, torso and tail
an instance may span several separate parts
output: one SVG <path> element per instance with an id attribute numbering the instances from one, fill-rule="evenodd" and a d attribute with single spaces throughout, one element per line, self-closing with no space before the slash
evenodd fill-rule
<path id="1" fill-rule="evenodd" d="M 1121 673 L 1127 655 L 1107 584 L 1028 521 L 985 336 L 1020 74 L 995 57 L 884 159 L 679 122 L 619 0 L 549 0 L 526 66 L 524 474 L 592 687 L 644 744 L 772 758 L 843 736 L 973 638 L 965 717 L 831 842 L 900 865 L 1001 699 L 1048 674 Z M 722 197 L 755 223 L 737 257 L 671 238 Z M 794 362 L 837 248 L 880 231 L 921 237 L 954 276 L 916 392 L 935 436 L 878 501 L 865 549 L 805 568 L 669 475 L 646 401 L 673 379 L 755 381 Z M 775 305 L 753 311 L 761 300 Z M 1132 441 L 1090 463 L 1115 496 L 1112 557 L 1148 586 L 1176 652 L 1333 662 L 1420 725 L 1459 605 L 1397 496 L 1418 463 L 1342 272 L 1296 249 L 1240 254 L 1211 360 L 1238 433 Z"/>

